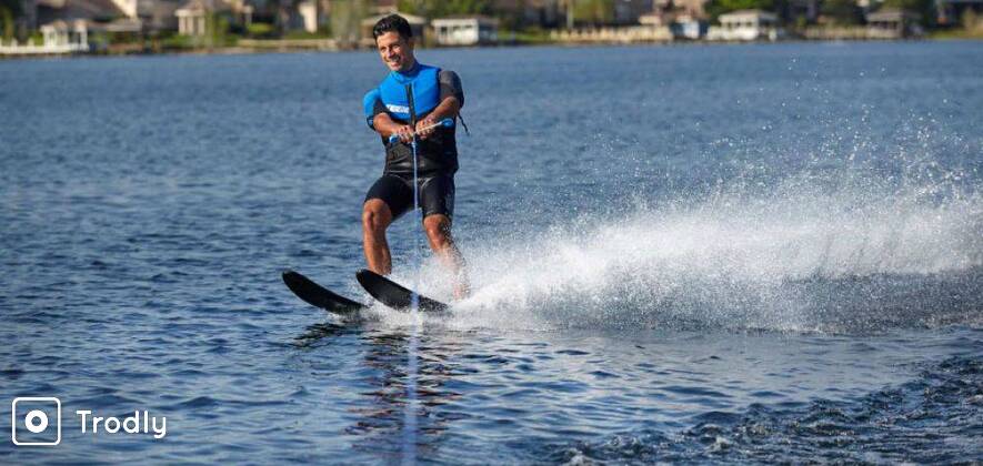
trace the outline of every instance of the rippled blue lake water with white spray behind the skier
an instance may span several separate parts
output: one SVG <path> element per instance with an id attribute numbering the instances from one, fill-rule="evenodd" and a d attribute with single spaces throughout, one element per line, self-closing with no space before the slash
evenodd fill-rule
<path id="1" fill-rule="evenodd" d="M 979 43 L 420 58 L 474 294 L 348 321 L 280 272 L 369 301 L 373 53 L 0 62 L 0 462 L 983 462 Z"/>

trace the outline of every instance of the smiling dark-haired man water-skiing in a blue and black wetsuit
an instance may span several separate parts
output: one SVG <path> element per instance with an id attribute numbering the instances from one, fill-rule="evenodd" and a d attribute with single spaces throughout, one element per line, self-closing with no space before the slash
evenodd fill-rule
<path id="1" fill-rule="evenodd" d="M 454 214 L 454 172 L 458 148 L 454 128 L 437 126 L 443 119 L 457 119 L 464 104 L 461 80 L 453 71 L 421 64 L 413 57 L 413 32 L 398 14 L 379 20 L 372 29 L 375 47 L 389 75 L 364 99 L 369 126 L 385 146 L 385 169 L 365 194 L 362 206 L 362 243 L 369 270 L 381 275 L 392 272 L 392 257 L 385 229 L 413 207 L 413 151 L 417 135 L 419 206 L 430 249 L 455 277 L 454 297 L 468 294 L 464 259 L 451 236 Z M 408 94 L 412 92 L 412 102 Z M 411 126 L 410 107 L 417 123 Z M 391 135 L 399 141 L 389 142 Z"/>

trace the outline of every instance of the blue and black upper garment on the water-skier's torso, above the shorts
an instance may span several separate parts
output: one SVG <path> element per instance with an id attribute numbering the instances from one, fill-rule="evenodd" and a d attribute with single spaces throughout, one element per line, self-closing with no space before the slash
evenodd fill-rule
<path id="1" fill-rule="evenodd" d="M 380 113 L 389 114 L 398 123 L 410 123 L 407 84 L 412 85 L 413 107 L 418 121 L 430 114 L 449 95 L 454 95 L 462 105 L 464 104 L 461 81 L 454 72 L 417 62 L 407 72 L 390 72 L 378 88 L 365 94 L 362 104 L 369 128 L 374 130 L 372 120 Z M 381 135 L 380 139 L 385 146 L 384 173 L 412 173 L 413 152 L 410 144 L 401 141 L 390 143 Z M 454 138 L 454 128 L 440 126 L 428 139 L 418 141 L 417 154 L 419 156 L 418 171 L 421 176 L 450 175 L 457 172 L 458 144 Z"/>

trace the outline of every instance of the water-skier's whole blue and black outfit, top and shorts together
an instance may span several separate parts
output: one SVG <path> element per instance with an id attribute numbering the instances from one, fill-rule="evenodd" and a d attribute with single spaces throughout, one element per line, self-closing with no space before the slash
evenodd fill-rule
<path id="1" fill-rule="evenodd" d="M 417 62 L 407 72 L 390 72 L 378 88 L 365 94 L 363 104 L 369 128 L 374 130 L 372 120 L 380 113 L 389 114 L 397 123 L 410 123 L 408 83 L 412 84 L 418 120 L 430 114 L 448 97 L 453 95 L 461 105 L 464 104 L 464 91 L 457 73 Z M 417 174 L 424 217 L 431 214 L 453 217 L 454 172 L 458 171 L 455 128 L 439 126 L 427 140 L 417 141 Z M 402 141 L 390 143 L 387 138 L 380 138 L 385 146 L 385 169 L 369 189 L 365 201 L 381 199 L 395 219 L 409 211 L 413 203 L 413 151 Z"/>

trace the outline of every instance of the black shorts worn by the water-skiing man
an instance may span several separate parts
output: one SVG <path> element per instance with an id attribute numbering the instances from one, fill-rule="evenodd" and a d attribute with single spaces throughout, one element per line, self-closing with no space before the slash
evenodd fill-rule
<path id="1" fill-rule="evenodd" d="M 420 186 L 420 206 L 423 209 L 423 217 L 433 214 L 443 214 L 448 219 L 454 216 L 454 176 L 447 174 L 437 174 L 420 176 L 417 179 Z M 365 201 L 370 199 L 381 199 L 389 205 L 392 217 L 398 219 L 400 215 L 410 210 L 413 204 L 413 178 L 385 173 L 375 180 L 369 193 L 365 194 Z"/>

